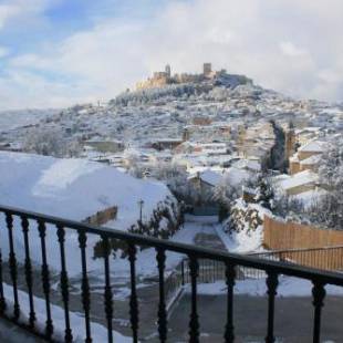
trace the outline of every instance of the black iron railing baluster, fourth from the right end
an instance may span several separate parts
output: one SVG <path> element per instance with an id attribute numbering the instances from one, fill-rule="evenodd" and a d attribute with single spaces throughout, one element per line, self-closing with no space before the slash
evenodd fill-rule
<path id="1" fill-rule="evenodd" d="M 191 284 L 191 312 L 189 321 L 189 342 L 199 342 L 199 316 L 197 312 L 197 278 L 199 276 L 199 263 L 196 257 L 189 257 L 190 284 Z"/>

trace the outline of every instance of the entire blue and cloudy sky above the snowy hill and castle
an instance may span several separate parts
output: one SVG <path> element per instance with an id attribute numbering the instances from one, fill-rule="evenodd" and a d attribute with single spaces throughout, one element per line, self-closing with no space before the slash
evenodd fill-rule
<path id="1" fill-rule="evenodd" d="M 205 61 L 343 100 L 341 0 L 0 0 L 0 110 L 108 100 Z"/>

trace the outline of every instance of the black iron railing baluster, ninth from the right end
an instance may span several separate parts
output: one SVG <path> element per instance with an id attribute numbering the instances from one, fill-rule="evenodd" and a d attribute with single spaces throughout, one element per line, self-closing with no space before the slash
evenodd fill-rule
<path id="1" fill-rule="evenodd" d="M 70 324 L 70 314 L 69 314 L 69 279 L 67 279 L 67 271 L 65 267 L 65 249 L 64 249 L 64 239 L 65 239 L 65 231 L 63 226 L 58 226 L 58 238 L 60 243 L 60 254 L 61 254 L 61 293 L 64 304 L 64 320 L 65 320 L 65 332 L 64 332 L 64 340 L 65 342 L 70 343 L 73 341 L 73 334 Z"/>

